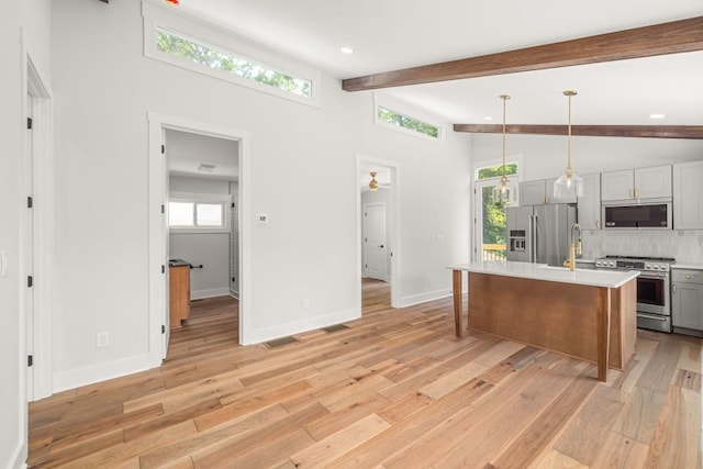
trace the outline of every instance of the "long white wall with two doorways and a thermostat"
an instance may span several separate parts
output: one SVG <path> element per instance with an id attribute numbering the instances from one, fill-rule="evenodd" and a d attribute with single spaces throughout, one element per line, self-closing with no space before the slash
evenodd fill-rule
<path id="1" fill-rule="evenodd" d="M 401 295 L 449 292 L 445 266 L 468 260 L 467 136 L 437 144 L 377 127 L 371 93 L 324 75 L 315 108 L 147 59 L 136 0 L 68 0 L 53 25 L 57 389 L 146 366 L 148 111 L 252 135 L 242 203 L 269 223 L 248 221 L 250 340 L 358 316 L 357 154 L 401 165 Z M 437 231 L 446 242 L 432 245 Z M 96 349 L 98 332 L 110 347 Z"/>

